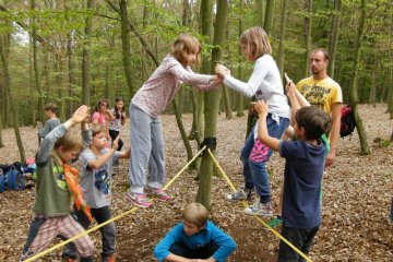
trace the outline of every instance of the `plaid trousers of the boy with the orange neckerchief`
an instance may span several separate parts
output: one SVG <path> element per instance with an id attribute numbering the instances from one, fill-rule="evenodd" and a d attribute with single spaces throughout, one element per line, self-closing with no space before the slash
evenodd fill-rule
<path id="1" fill-rule="evenodd" d="M 83 231 L 83 227 L 71 215 L 58 217 L 36 216 L 29 226 L 21 261 L 45 250 L 53 238 L 59 235 L 72 238 Z M 81 261 L 93 261 L 94 242 L 87 235 L 74 240 L 73 243 L 82 257 Z"/>

